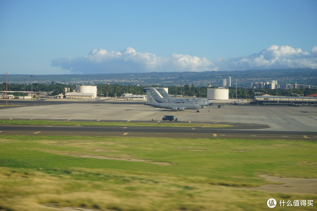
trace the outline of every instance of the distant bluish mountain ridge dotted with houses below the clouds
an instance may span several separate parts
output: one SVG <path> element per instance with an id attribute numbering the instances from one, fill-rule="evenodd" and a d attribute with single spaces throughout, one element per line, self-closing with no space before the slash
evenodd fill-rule
<path id="1" fill-rule="evenodd" d="M 0 75 L 1 83 L 5 75 Z M 30 75 L 8 75 L 8 83 L 30 83 Z M 238 87 L 248 87 L 250 83 L 277 80 L 278 84 L 306 84 L 317 86 L 317 69 L 279 69 L 279 70 L 243 70 L 243 71 L 204 71 L 204 72 L 145 72 L 145 73 L 106 73 L 106 74 L 63 74 L 34 75 L 34 83 L 66 84 L 103 84 L 119 83 L 122 85 L 152 85 L 161 86 L 194 84 L 195 86 L 219 86 L 220 79 L 231 77 L 232 86 L 238 79 Z"/>

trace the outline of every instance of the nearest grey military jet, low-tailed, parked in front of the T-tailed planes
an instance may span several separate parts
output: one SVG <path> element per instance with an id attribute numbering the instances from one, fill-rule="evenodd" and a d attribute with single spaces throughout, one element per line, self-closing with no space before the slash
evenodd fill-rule
<path id="1" fill-rule="evenodd" d="M 147 103 L 144 103 L 144 105 L 152 106 L 154 108 L 160 108 L 160 109 L 171 109 L 173 111 L 184 111 L 185 109 L 201 109 L 202 107 L 198 105 L 197 103 L 160 103 L 156 102 L 152 95 L 150 93 L 146 93 Z"/>

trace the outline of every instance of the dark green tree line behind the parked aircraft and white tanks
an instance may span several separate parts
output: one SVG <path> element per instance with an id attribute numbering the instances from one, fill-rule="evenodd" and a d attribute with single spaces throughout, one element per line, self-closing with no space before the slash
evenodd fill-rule
<path id="1" fill-rule="evenodd" d="M 132 85 L 120 85 L 120 84 L 96 84 L 98 89 L 98 96 L 122 96 L 124 93 L 132 93 L 134 95 L 144 95 L 145 92 L 143 88 L 145 86 L 132 86 Z M 58 95 L 60 93 L 65 94 L 64 88 L 68 87 L 71 91 L 75 90 L 76 85 L 69 84 L 41 84 L 33 83 L 34 92 L 52 92 L 52 96 Z M 152 85 L 153 87 L 158 87 L 157 85 Z M 169 86 L 169 94 L 180 95 L 182 92 L 183 96 L 197 96 L 197 97 L 207 97 L 208 87 L 195 87 L 194 84 L 184 84 L 181 88 L 179 86 Z M 211 88 L 217 88 L 215 86 Z M 0 84 L 0 91 L 5 91 L 6 84 Z M 31 91 L 31 84 L 8 84 L 9 91 Z M 272 96 L 307 96 L 310 94 L 317 93 L 317 89 L 252 89 L 252 88 L 237 88 L 229 87 L 229 97 L 233 98 L 253 98 L 253 96 L 269 94 Z M 23 95 L 16 93 L 15 96 Z"/>

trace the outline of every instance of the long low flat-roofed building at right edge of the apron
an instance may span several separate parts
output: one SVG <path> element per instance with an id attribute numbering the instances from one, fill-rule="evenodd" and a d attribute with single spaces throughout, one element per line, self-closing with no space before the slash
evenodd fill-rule
<path id="1" fill-rule="evenodd" d="M 317 97 L 254 96 L 256 105 L 317 106 Z"/>

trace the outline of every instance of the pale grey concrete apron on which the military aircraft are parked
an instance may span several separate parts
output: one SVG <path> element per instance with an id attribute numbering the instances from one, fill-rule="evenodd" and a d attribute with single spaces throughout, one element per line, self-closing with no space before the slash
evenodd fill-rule
<path id="1" fill-rule="evenodd" d="M 17 101 L 19 104 L 23 101 Z M 12 103 L 10 103 L 12 104 Z M 10 105 L 9 104 L 9 105 Z M 13 103 L 14 104 L 14 103 Z M 29 103 L 28 103 L 29 104 Z M 3 108 L 3 107 L 2 107 Z M 208 106 L 206 109 L 171 111 L 127 102 L 37 104 L 10 106 L 0 110 L 1 119 L 82 119 L 120 121 L 161 121 L 164 115 L 174 115 L 181 122 L 228 122 L 266 124 L 269 131 L 317 131 L 317 107 L 222 105 Z"/>

